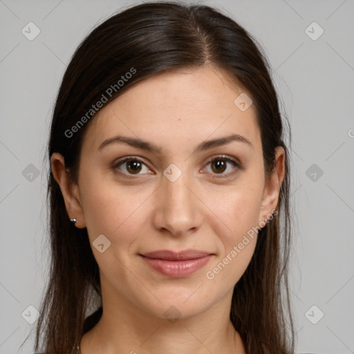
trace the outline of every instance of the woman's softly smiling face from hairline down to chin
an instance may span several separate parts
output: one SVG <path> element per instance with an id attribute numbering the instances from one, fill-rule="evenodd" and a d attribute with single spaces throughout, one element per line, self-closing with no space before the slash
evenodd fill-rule
<path id="1" fill-rule="evenodd" d="M 162 73 L 90 122 L 77 204 L 65 199 L 87 227 L 102 297 L 160 318 L 171 306 L 189 317 L 231 298 L 279 187 L 265 183 L 254 106 L 234 103 L 243 92 L 209 66 Z"/>

